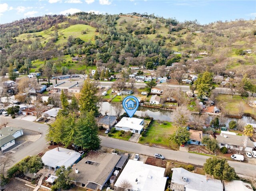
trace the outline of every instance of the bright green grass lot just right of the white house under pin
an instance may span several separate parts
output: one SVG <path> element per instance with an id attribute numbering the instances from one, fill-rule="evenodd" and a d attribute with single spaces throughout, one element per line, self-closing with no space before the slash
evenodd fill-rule
<path id="1" fill-rule="evenodd" d="M 170 134 L 174 133 L 176 129 L 171 122 L 153 120 L 146 132 L 146 136 L 140 138 L 139 143 L 162 145 L 177 150 L 179 147 L 169 140 Z"/>

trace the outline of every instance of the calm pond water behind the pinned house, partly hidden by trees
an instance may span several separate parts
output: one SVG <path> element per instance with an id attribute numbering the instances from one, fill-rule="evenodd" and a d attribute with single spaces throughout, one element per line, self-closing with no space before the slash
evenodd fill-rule
<path id="1" fill-rule="evenodd" d="M 117 106 L 122 106 L 122 104 L 120 103 L 109 103 L 109 102 L 102 102 L 101 107 L 100 107 L 100 112 L 102 115 L 116 115 L 115 112 L 115 108 Z M 122 112 L 121 115 L 124 113 L 124 109 L 122 108 Z M 145 116 L 148 115 L 150 117 L 153 117 L 154 120 L 162 120 L 162 121 L 168 121 L 168 122 L 172 122 L 173 118 L 172 118 L 172 112 L 170 110 L 160 110 L 160 109 L 156 109 L 156 108 L 146 108 L 146 107 L 140 107 L 138 108 L 138 110 L 135 112 L 136 115 L 138 116 Z M 197 114 L 193 114 L 193 115 L 197 115 Z M 212 120 L 212 118 L 214 118 L 214 116 L 208 116 L 208 122 L 210 122 Z M 246 123 L 251 123 L 251 124 L 256 124 L 256 120 L 254 120 L 252 117 L 248 117 L 248 116 L 243 116 L 242 119 L 244 120 L 244 122 Z M 228 126 L 228 123 L 231 121 L 238 121 L 237 118 L 226 118 L 226 126 Z"/>

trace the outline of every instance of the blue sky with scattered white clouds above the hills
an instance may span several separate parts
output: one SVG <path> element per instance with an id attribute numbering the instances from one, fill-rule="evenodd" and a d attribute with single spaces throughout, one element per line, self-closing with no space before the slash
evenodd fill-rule
<path id="1" fill-rule="evenodd" d="M 198 20 L 208 24 L 217 20 L 256 18 L 255 0 L 1 0 L 0 23 L 44 14 L 85 11 L 95 13 L 154 13 L 164 18 Z"/>

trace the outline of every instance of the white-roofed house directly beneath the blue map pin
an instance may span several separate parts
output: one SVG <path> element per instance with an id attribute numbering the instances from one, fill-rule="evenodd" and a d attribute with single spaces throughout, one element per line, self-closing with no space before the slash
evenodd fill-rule
<path id="1" fill-rule="evenodd" d="M 144 119 L 123 117 L 120 122 L 115 125 L 116 130 L 130 131 L 140 134 L 143 129 Z"/>

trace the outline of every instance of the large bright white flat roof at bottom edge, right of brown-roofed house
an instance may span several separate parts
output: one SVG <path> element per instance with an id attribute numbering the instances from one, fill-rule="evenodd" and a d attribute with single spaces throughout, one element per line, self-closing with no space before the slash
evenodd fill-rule
<path id="1" fill-rule="evenodd" d="M 115 186 L 123 180 L 131 183 L 133 191 L 164 191 L 167 178 L 165 168 L 144 164 L 143 161 L 129 160 L 118 177 Z"/>

